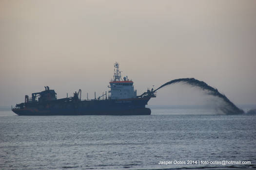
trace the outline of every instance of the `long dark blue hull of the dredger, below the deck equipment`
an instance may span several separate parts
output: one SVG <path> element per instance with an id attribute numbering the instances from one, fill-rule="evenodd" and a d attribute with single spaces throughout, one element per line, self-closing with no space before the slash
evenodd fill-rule
<path id="1" fill-rule="evenodd" d="M 145 105 L 150 98 L 121 100 L 93 100 L 77 102 L 47 102 L 14 108 L 19 116 L 54 116 L 54 115 L 150 115 L 151 110 Z"/>

